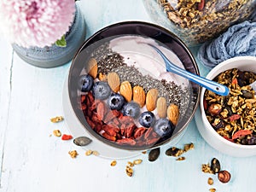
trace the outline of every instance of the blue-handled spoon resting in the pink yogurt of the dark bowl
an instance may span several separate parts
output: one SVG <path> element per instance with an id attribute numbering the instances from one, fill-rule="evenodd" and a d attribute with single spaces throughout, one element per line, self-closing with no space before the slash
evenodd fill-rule
<path id="1" fill-rule="evenodd" d="M 177 67 L 175 64 L 173 64 L 171 61 L 168 60 L 166 55 L 164 55 L 160 49 L 156 48 L 152 44 L 148 44 L 151 47 L 153 47 L 162 57 L 162 59 L 166 63 L 166 71 L 176 73 L 179 76 L 182 76 L 185 79 L 189 79 L 190 81 L 193 81 L 195 84 L 199 84 L 202 87 L 205 87 L 207 90 L 212 90 L 212 92 L 220 95 L 220 96 L 228 96 L 230 93 L 230 90 L 227 86 L 223 84 L 218 84 L 212 80 L 202 78 L 198 75 L 195 75 L 194 73 L 190 73 L 183 68 Z"/>

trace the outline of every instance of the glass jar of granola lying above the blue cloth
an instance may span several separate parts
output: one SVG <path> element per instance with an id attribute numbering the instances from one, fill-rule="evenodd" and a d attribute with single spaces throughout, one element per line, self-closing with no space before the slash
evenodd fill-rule
<path id="1" fill-rule="evenodd" d="M 143 0 L 151 18 L 195 46 L 247 20 L 256 0 Z"/>

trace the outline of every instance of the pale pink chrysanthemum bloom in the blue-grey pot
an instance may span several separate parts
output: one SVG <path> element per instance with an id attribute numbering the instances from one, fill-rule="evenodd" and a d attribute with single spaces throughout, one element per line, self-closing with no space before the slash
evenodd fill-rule
<path id="1" fill-rule="evenodd" d="M 23 47 L 51 46 L 73 22 L 74 0 L 1 0 L 0 30 Z"/>

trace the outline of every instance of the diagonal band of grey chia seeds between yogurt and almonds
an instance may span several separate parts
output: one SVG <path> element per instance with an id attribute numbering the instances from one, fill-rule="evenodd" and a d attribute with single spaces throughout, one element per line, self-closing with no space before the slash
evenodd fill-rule
<path id="1" fill-rule="evenodd" d="M 167 105 L 174 103 L 183 115 L 189 105 L 189 87 L 182 88 L 181 85 L 166 79 L 154 79 L 150 75 L 143 75 L 137 67 L 127 66 L 124 57 L 109 48 L 109 43 L 102 44 L 92 54 L 98 64 L 98 73 L 118 73 L 120 82 L 129 81 L 131 87 L 141 86 L 147 93 L 150 89 L 157 89 L 159 96 L 166 98 Z M 128 58 L 129 59 L 129 58 Z M 136 63 L 135 63 L 136 64 Z"/>

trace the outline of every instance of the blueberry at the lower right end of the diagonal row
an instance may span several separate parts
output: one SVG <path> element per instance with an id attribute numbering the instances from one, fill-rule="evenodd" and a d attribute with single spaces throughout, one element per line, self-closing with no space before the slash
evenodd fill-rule
<path id="1" fill-rule="evenodd" d="M 172 121 L 166 118 L 160 118 L 154 124 L 154 131 L 160 137 L 167 137 L 172 135 L 174 128 L 175 128 L 175 125 L 172 124 Z"/>

